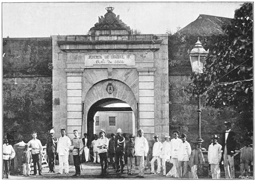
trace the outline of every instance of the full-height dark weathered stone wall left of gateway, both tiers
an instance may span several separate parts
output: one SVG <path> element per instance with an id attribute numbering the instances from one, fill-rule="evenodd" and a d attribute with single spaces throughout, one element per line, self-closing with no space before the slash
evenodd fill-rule
<path id="1" fill-rule="evenodd" d="M 52 125 L 51 38 L 3 38 L 3 135 L 14 142 L 38 132 L 42 144 Z"/>

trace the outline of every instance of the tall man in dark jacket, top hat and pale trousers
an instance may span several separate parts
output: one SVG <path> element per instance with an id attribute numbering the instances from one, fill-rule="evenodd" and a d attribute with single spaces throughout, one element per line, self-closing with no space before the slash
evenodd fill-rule
<path id="1" fill-rule="evenodd" d="M 234 177 L 234 150 L 236 146 L 236 140 L 234 139 L 235 133 L 231 130 L 231 122 L 224 121 L 226 130 L 224 133 L 224 146 L 223 149 L 223 161 L 225 178 L 235 178 Z"/>

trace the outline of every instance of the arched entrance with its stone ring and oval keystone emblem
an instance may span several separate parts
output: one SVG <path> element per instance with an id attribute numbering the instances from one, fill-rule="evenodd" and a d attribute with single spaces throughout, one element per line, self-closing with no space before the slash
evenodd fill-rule
<path id="1" fill-rule="evenodd" d="M 111 91 L 108 89 L 108 85 L 111 84 Z M 118 103 L 127 103 L 129 106 L 113 106 L 109 107 L 109 104 L 118 104 Z M 129 125 L 131 127 L 132 132 L 134 133 L 136 128 L 138 127 L 138 113 L 137 108 L 138 103 L 135 97 L 135 94 L 131 90 L 131 88 L 126 85 L 124 82 L 116 79 L 105 79 L 95 83 L 86 93 L 84 100 L 84 114 L 83 114 L 83 125 L 82 128 L 87 132 L 90 138 L 93 138 L 93 133 L 95 130 L 94 127 L 94 115 L 96 112 L 115 112 L 114 116 L 116 117 L 116 124 L 110 125 L 111 128 L 108 127 L 109 124 L 104 125 L 102 128 L 105 128 L 109 131 L 113 131 L 113 129 L 118 128 L 120 122 L 123 121 L 121 119 L 117 120 L 118 116 L 120 116 L 120 112 L 131 112 L 133 119 L 127 119 Z M 118 113 L 119 112 L 119 113 Z M 123 115 L 126 113 L 123 113 Z M 105 117 L 108 119 L 109 117 Z M 107 122 L 106 120 L 104 122 Z M 108 123 L 108 122 L 107 122 Z M 127 123 L 127 122 L 125 122 Z M 124 125 L 124 124 L 123 124 Z M 114 126 L 114 127 L 113 127 Z M 120 125 L 121 127 L 121 125 Z M 130 130 L 130 129 L 129 129 Z M 82 132 L 84 132 L 82 131 Z M 97 133 L 97 132 L 95 132 Z M 111 132 L 107 132 L 111 133 Z"/>

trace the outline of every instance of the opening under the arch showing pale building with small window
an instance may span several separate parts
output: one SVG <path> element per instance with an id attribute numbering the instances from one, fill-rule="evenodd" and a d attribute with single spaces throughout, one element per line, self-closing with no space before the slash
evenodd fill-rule
<path id="1" fill-rule="evenodd" d="M 130 106 L 116 98 L 104 98 L 95 102 L 87 113 L 87 133 L 93 136 L 104 129 L 107 134 L 121 128 L 123 133 L 135 133 L 135 117 Z"/>

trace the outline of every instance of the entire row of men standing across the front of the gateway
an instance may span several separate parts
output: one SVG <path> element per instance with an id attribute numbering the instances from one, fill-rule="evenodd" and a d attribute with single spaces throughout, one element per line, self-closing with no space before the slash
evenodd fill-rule
<path id="1" fill-rule="evenodd" d="M 233 155 L 235 151 L 236 141 L 234 139 L 235 133 L 230 129 L 231 123 L 225 121 L 226 131 L 224 133 L 223 146 L 218 143 L 219 137 L 216 134 L 211 136 L 211 144 L 208 147 L 208 163 L 210 164 L 210 171 L 212 178 L 220 178 L 219 164 L 223 155 L 223 164 L 225 170 L 225 178 L 235 178 L 234 176 L 234 161 Z M 78 131 L 73 130 L 74 138 L 72 145 L 70 138 L 65 135 L 65 129 L 61 129 L 61 136 L 56 138 L 53 129 L 49 131 L 50 136 L 47 138 L 46 153 L 49 165 L 48 172 L 55 172 L 55 159 L 59 160 L 59 170 L 57 174 L 68 173 L 68 155 L 69 151 L 73 154 L 73 163 L 75 166 L 75 174 L 80 175 L 80 156 L 84 151 L 85 161 L 89 160 L 89 147 L 93 148 L 93 162 L 100 162 L 101 175 L 105 176 L 108 167 L 108 158 L 112 164 L 115 172 L 122 173 L 124 171 L 124 154 L 127 156 L 127 174 L 135 173 L 135 157 L 138 165 L 138 175 L 136 177 L 143 178 L 144 163 L 149 147 L 146 138 L 143 136 L 144 131 L 138 129 L 138 136 L 128 135 L 127 139 L 122 135 L 122 130 L 117 129 L 116 134 L 111 133 L 111 138 L 106 137 L 106 132 L 101 129 L 99 131 L 99 138 L 95 136 L 94 140 L 89 144 L 87 134 L 80 139 Z M 179 138 L 179 131 L 173 130 L 173 138 L 169 135 L 164 136 L 164 142 L 159 141 L 159 136 L 154 135 L 154 144 L 152 147 L 151 174 L 159 174 L 162 167 L 163 176 L 171 176 L 175 178 L 198 178 L 197 167 L 204 164 L 202 151 L 199 148 L 198 142 L 193 142 L 194 149 L 191 150 L 190 144 L 186 140 L 186 134 L 182 133 Z M 28 141 L 25 146 L 23 154 L 23 173 L 29 175 L 30 162 L 33 162 L 33 175 L 36 175 L 37 167 L 38 173 L 41 174 L 41 151 L 42 145 L 37 139 L 37 133 L 32 133 L 32 139 Z M 135 140 L 134 140 L 135 137 Z M 3 144 L 3 171 L 4 177 L 9 176 L 10 160 L 15 156 L 15 151 L 8 140 L 4 139 Z M 28 148 L 31 148 L 31 151 Z M 249 170 L 248 161 L 252 160 L 252 148 L 246 146 L 241 149 L 241 170 Z M 58 157 L 58 158 L 56 158 Z M 244 161 L 242 160 L 242 157 Z M 98 160 L 99 159 L 99 160 Z M 157 161 L 157 169 L 154 171 L 154 162 Z M 171 169 L 166 173 L 166 162 L 172 164 Z M 26 170 L 27 169 L 27 170 Z M 188 173 L 190 177 L 188 176 Z"/>

